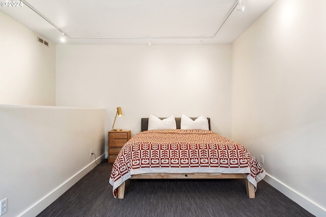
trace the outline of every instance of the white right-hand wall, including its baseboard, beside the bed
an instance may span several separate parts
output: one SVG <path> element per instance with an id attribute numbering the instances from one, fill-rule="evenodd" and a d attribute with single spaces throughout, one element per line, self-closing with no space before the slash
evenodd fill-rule
<path id="1" fill-rule="evenodd" d="M 232 139 L 263 155 L 265 180 L 317 216 L 326 215 L 324 8 L 277 1 L 232 56 Z"/>

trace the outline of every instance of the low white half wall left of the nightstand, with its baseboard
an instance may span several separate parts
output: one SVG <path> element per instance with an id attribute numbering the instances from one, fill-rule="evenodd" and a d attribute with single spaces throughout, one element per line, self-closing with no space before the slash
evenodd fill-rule
<path id="1" fill-rule="evenodd" d="M 36 216 L 103 159 L 104 110 L 0 105 L 0 138 L 5 216 Z"/>

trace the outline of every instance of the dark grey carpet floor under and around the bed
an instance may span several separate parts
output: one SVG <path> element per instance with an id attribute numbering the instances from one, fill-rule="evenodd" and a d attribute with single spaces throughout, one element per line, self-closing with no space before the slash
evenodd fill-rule
<path id="1" fill-rule="evenodd" d="M 111 169 L 103 161 L 38 216 L 314 216 L 265 181 L 249 199 L 241 179 L 133 179 L 116 199 Z"/>

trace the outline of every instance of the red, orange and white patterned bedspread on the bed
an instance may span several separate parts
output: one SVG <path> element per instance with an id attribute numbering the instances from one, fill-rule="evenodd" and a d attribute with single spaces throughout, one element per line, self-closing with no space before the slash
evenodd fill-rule
<path id="1" fill-rule="evenodd" d="M 255 187 L 265 176 L 258 160 L 242 145 L 210 130 L 147 130 L 132 137 L 114 162 L 113 195 L 133 174 L 248 173 Z"/>

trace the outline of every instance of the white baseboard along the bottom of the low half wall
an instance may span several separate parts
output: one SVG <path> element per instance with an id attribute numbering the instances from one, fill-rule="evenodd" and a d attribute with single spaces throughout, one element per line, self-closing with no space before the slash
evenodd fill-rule
<path id="1" fill-rule="evenodd" d="M 96 158 L 96 161 L 101 162 L 102 160 L 104 160 L 104 158 L 105 158 L 105 153 L 103 153 L 101 156 Z M 51 203 L 53 203 L 61 195 L 63 195 L 72 185 L 74 185 L 77 181 L 82 179 L 87 173 L 89 173 L 92 169 L 94 169 L 96 167 L 94 163 L 95 163 L 95 159 L 92 162 L 90 162 L 90 164 L 87 165 L 85 168 L 83 168 L 82 170 L 74 174 L 72 177 L 70 177 L 68 180 L 66 180 L 64 183 L 59 185 L 52 192 L 48 193 L 42 199 L 40 199 L 35 204 L 33 204 L 31 207 L 29 207 L 21 214 L 19 214 L 19 216 L 29 217 L 29 216 L 38 215 L 46 207 L 48 207 Z"/>

